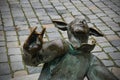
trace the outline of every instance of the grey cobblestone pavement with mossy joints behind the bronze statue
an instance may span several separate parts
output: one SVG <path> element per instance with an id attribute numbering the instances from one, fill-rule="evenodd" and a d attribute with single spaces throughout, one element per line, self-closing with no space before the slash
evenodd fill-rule
<path id="1" fill-rule="evenodd" d="M 94 37 L 93 54 L 120 79 L 120 0 L 0 0 L 0 80 L 34 73 L 41 67 L 23 63 L 22 44 L 30 34 L 29 27 L 47 27 L 45 41 L 64 38 L 52 20 L 67 23 L 74 18 L 86 19 L 104 37 Z"/>

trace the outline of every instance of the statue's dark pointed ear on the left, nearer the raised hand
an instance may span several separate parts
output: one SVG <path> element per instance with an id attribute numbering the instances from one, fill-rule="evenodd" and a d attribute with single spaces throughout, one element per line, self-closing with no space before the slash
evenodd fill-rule
<path id="1" fill-rule="evenodd" d="M 67 30 L 67 23 L 62 22 L 62 21 L 52 21 L 55 24 L 55 27 L 57 27 L 58 29 L 62 30 L 62 31 L 66 31 Z"/>

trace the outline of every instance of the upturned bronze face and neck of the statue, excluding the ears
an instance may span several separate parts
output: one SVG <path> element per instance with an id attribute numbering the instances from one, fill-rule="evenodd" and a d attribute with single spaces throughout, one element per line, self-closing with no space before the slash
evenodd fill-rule
<path id="1" fill-rule="evenodd" d="M 75 19 L 68 25 L 68 38 L 71 44 L 78 48 L 81 43 L 87 43 L 89 37 L 89 28 L 85 20 Z"/>

